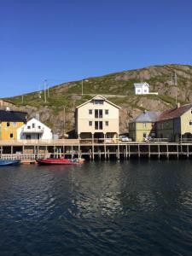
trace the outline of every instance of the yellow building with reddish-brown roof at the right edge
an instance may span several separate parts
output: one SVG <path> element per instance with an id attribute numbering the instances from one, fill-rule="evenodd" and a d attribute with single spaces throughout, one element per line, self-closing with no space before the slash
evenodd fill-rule
<path id="1" fill-rule="evenodd" d="M 192 137 L 192 103 L 164 111 L 156 123 L 157 137 L 177 142 Z"/>

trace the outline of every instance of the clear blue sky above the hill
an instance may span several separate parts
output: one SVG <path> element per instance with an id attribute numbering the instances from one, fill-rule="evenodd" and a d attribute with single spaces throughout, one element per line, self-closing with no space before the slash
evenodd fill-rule
<path id="1" fill-rule="evenodd" d="M 0 0 L 0 97 L 192 64 L 192 0 Z"/>

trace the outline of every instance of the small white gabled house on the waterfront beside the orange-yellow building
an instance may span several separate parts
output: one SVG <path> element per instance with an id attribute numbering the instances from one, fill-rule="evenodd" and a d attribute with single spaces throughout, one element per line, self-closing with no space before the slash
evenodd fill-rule
<path id="1" fill-rule="evenodd" d="M 17 129 L 17 138 L 19 140 L 49 140 L 53 138 L 53 134 L 48 126 L 33 118 Z"/>

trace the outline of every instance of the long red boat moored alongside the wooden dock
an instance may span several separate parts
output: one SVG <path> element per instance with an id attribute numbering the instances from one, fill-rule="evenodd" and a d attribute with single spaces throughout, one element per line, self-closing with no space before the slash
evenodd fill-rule
<path id="1" fill-rule="evenodd" d="M 44 158 L 38 159 L 38 164 L 40 165 L 77 165 L 82 164 L 82 160 L 79 159 L 66 159 L 66 158 Z"/>

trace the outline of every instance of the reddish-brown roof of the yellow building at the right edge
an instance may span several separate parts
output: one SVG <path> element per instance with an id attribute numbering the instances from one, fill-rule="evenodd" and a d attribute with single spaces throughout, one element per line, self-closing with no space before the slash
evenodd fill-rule
<path id="1" fill-rule="evenodd" d="M 176 108 L 166 110 L 160 114 L 157 121 L 162 121 L 167 119 L 177 119 L 181 115 L 183 115 L 183 113 L 188 111 L 190 108 L 192 108 L 192 103 L 183 105 L 181 107 L 176 107 Z"/>

